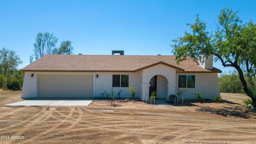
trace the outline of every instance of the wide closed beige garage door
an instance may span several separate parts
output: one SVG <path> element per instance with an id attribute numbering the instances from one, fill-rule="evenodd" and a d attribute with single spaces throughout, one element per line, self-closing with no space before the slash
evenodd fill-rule
<path id="1" fill-rule="evenodd" d="M 40 98 L 92 98 L 93 75 L 38 75 Z"/>

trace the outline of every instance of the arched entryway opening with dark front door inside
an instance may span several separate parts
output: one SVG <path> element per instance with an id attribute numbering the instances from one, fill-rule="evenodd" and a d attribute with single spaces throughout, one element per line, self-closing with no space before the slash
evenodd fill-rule
<path id="1" fill-rule="evenodd" d="M 151 92 L 156 92 L 156 98 L 167 98 L 168 80 L 165 76 L 155 75 L 150 79 L 149 84 L 149 96 L 151 95 Z"/>

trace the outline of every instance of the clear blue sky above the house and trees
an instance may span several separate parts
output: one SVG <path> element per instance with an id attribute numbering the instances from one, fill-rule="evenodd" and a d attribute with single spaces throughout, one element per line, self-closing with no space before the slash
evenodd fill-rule
<path id="1" fill-rule="evenodd" d="M 38 32 L 71 40 L 74 54 L 172 55 L 172 40 L 196 14 L 214 31 L 224 7 L 256 22 L 255 0 L 0 0 L 0 48 L 16 51 L 24 68 Z M 214 66 L 222 71 L 220 62 Z"/>

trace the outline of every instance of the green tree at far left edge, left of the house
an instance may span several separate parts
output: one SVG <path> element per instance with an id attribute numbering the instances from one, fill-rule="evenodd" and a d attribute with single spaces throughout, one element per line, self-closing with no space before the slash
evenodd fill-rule
<path id="1" fill-rule="evenodd" d="M 16 52 L 13 50 L 8 50 L 6 48 L 0 50 L 0 72 L 4 76 L 6 76 L 8 71 L 16 70 L 17 66 L 22 63 L 20 57 L 16 55 Z"/>

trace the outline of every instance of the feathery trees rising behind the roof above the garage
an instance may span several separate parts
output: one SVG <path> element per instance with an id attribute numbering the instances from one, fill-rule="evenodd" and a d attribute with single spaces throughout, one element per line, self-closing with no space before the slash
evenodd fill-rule
<path id="1" fill-rule="evenodd" d="M 34 43 L 34 54 L 30 56 L 30 63 L 45 54 L 73 54 L 72 42 L 70 40 L 63 41 L 59 48 L 56 48 L 57 42 L 58 38 L 53 36 L 53 34 L 49 34 L 48 32 L 42 34 L 39 32 Z"/>

